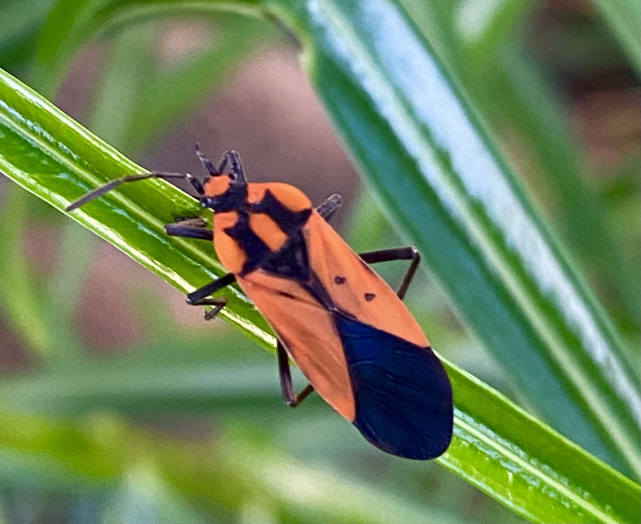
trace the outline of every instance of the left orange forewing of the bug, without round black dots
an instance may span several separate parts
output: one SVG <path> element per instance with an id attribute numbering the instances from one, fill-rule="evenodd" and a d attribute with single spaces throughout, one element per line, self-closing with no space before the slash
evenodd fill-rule
<path id="1" fill-rule="evenodd" d="M 256 270 L 246 277 L 237 275 L 237 281 L 314 389 L 353 422 L 354 393 L 331 313 L 292 279 Z"/>

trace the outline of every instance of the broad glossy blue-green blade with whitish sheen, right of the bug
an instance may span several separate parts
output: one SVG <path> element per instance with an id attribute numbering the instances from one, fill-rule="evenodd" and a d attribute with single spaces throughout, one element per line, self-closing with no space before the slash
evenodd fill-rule
<path id="1" fill-rule="evenodd" d="M 304 4 L 312 80 L 388 213 L 545 420 L 638 475 L 618 337 L 438 57 L 393 2 Z"/>

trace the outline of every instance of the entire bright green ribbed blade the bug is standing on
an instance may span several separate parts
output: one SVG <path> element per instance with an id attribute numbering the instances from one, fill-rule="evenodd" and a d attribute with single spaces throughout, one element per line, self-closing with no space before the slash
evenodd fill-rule
<path id="1" fill-rule="evenodd" d="M 106 179 L 140 172 L 6 73 L 0 73 L 0 138 L 0 170 L 58 209 Z M 190 291 L 222 268 L 208 245 L 167 238 L 162 224 L 171 222 L 172 213 L 198 211 L 176 188 L 146 181 L 88 204 L 74 219 L 179 290 Z M 226 293 L 228 320 L 272 349 L 274 340 L 262 317 L 238 291 Z M 446 467 L 533 521 L 557 522 L 569 514 L 574 522 L 638 518 L 636 484 L 485 384 L 453 366 L 448 370 L 457 411 L 454 442 L 442 459 Z"/>

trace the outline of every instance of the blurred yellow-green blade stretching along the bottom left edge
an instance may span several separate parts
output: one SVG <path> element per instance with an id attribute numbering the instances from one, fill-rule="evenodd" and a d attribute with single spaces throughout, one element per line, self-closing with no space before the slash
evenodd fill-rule
<path id="1" fill-rule="evenodd" d="M 32 488 L 109 495 L 123 483 L 135 492 L 130 483 L 138 480 L 147 482 L 139 500 L 149 502 L 158 495 L 153 484 L 160 482 L 194 503 L 210 522 L 221 521 L 212 518 L 221 508 L 238 514 L 250 501 L 273 511 L 274 522 L 433 521 L 406 500 L 301 464 L 251 428 L 222 424 L 216 433 L 216 438 L 183 439 L 176 446 L 175 439 L 112 416 L 71 422 L 0 413 L 0 483 L 19 485 L 28 478 Z M 308 485 L 296 483 L 301 479 L 315 480 L 314 496 Z M 341 496 L 345 490 L 353 496 Z"/>

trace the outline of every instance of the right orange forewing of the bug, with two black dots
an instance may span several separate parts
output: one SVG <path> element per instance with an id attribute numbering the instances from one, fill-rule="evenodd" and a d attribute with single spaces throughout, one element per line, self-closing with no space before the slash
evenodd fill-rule
<path id="1" fill-rule="evenodd" d="M 428 347 L 419 323 L 396 293 L 313 211 L 304 226 L 310 267 L 332 300 L 359 322 Z"/>

